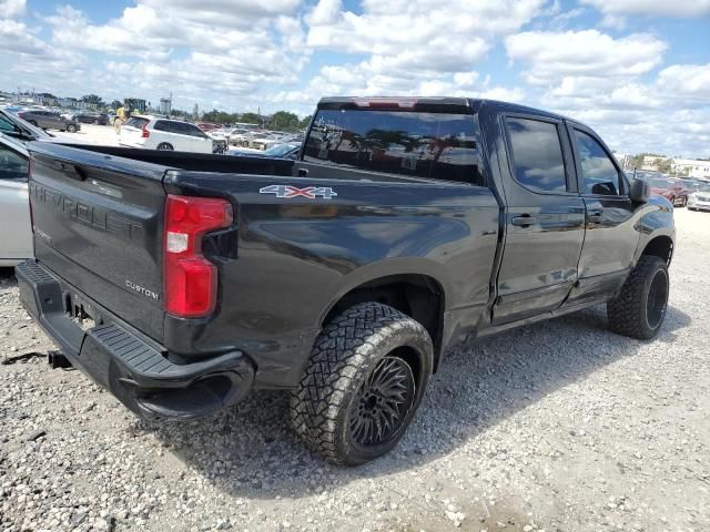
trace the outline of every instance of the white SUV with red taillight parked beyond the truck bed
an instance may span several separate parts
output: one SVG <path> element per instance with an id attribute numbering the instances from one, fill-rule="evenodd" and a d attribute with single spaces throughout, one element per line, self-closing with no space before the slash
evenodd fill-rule
<path id="1" fill-rule="evenodd" d="M 131 116 L 121 126 L 119 144 L 146 150 L 214 153 L 215 144 L 200 127 L 179 120 Z"/>

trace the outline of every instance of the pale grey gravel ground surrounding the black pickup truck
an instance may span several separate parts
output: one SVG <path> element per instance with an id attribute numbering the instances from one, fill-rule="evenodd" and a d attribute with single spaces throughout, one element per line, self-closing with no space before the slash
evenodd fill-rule
<path id="1" fill-rule="evenodd" d="M 51 344 L 0 275 L 0 530 L 710 530 L 710 214 L 677 211 L 665 328 L 604 308 L 450 350 L 390 456 L 322 462 L 256 392 L 146 423 Z"/>

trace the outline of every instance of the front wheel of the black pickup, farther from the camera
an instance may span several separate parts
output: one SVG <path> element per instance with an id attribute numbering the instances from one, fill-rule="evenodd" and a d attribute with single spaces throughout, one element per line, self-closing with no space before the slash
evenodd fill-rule
<path id="1" fill-rule="evenodd" d="M 619 295 L 607 303 L 609 328 L 631 338 L 653 338 L 666 319 L 669 291 L 666 262 L 642 255 Z"/>

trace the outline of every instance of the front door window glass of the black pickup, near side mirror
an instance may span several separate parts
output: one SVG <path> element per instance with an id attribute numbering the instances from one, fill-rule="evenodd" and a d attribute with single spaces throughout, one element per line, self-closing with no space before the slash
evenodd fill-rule
<path id="1" fill-rule="evenodd" d="M 619 171 L 591 135 L 575 130 L 579 164 L 584 178 L 584 194 L 618 196 L 621 194 Z"/>

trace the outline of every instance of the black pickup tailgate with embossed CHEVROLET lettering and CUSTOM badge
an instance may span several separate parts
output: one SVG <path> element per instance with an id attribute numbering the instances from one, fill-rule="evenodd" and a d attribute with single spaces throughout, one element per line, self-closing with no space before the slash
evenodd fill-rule
<path id="1" fill-rule="evenodd" d="M 162 340 L 165 166 L 58 144 L 28 147 L 37 259 Z M 71 291 L 68 303 L 82 305 Z"/>

